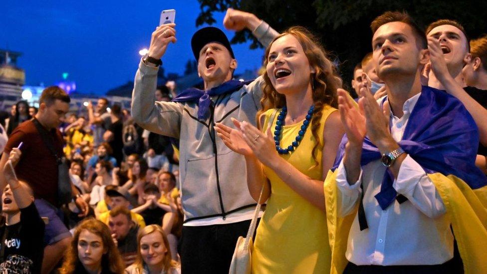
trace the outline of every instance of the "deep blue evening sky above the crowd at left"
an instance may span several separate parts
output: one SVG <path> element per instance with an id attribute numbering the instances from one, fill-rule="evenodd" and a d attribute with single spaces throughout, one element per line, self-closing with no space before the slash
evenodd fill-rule
<path id="1" fill-rule="evenodd" d="M 167 72 L 182 74 L 193 59 L 190 40 L 200 12 L 197 0 L 2 0 L 0 48 L 20 51 L 26 84 L 54 84 L 63 72 L 78 92 L 103 94 L 133 80 L 139 50 L 148 47 L 163 9 L 176 9 L 176 37 L 163 57 Z M 224 13 L 216 14 L 223 28 Z M 229 38 L 232 31 L 226 31 Z M 262 50 L 233 46 L 239 67 L 257 69 Z M 248 57 L 250 55 L 251 57 Z"/>

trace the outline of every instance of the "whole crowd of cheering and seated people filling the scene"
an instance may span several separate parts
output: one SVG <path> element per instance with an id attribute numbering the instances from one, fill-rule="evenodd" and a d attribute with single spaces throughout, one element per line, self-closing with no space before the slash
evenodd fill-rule
<path id="1" fill-rule="evenodd" d="M 71 113 L 57 86 L 12 106 L 1 273 L 229 273 L 256 203 L 252 273 L 487 272 L 487 36 L 385 12 L 346 91 L 306 28 L 231 8 L 224 26 L 266 47 L 262 75 L 233 80 L 228 38 L 205 27 L 204 90 L 174 96 L 157 86 L 168 23 L 130 110 Z"/>

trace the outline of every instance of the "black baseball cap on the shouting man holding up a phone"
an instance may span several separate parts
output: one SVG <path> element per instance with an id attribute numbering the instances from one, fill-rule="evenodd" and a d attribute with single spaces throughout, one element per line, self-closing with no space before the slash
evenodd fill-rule
<path id="1" fill-rule="evenodd" d="M 234 51 L 230 46 L 227 35 L 225 35 L 225 33 L 218 27 L 207 26 L 196 31 L 195 34 L 193 34 L 193 38 L 191 38 L 191 48 L 193 49 L 193 54 L 195 54 L 197 61 L 200 57 L 200 50 L 206 44 L 211 42 L 217 42 L 224 45 L 230 51 L 232 58 L 235 59 Z"/>

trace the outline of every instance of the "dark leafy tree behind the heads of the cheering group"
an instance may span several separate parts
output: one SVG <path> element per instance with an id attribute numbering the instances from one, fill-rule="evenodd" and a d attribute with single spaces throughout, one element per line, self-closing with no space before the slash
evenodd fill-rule
<path id="1" fill-rule="evenodd" d="M 470 37 L 486 32 L 487 1 L 459 0 L 199 0 L 197 25 L 213 24 L 214 12 L 228 7 L 245 10 L 265 20 L 277 31 L 302 25 L 321 37 L 321 42 L 340 64 L 344 83 L 350 83 L 353 67 L 372 50 L 370 22 L 387 10 L 405 10 L 420 26 L 449 18 L 462 23 Z M 250 31 L 237 32 L 232 43 L 251 41 L 260 46 Z M 260 56 L 255 56 L 259 58 Z"/>

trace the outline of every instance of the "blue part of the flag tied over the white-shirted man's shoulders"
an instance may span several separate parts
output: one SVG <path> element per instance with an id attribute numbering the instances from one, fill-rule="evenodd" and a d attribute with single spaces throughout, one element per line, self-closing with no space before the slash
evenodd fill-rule
<path id="1" fill-rule="evenodd" d="M 347 142 L 344 136 L 332 171 L 340 164 Z M 475 166 L 478 144 L 479 129 L 462 102 L 442 90 L 423 86 L 399 146 L 426 173 L 455 175 L 472 189 L 478 189 L 487 185 L 486 175 Z M 379 149 L 366 137 L 361 166 L 381 157 Z M 386 169 L 381 190 L 375 196 L 383 210 L 396 199 L 393 182 L 393 174 Z"/>

